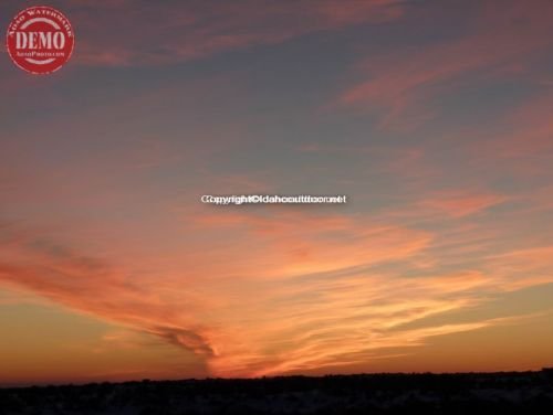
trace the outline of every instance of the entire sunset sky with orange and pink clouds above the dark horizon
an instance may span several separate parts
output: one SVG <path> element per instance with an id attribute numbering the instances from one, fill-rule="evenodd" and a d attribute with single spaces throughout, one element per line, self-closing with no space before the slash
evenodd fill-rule
<path id="1" fill-rule="evenodd" d="M 552 1 L 48 6 L 70 62 L 0 53 L 0 384 L 553 364 Z M 260 193 L 348 202 L 200 202 Z"/>

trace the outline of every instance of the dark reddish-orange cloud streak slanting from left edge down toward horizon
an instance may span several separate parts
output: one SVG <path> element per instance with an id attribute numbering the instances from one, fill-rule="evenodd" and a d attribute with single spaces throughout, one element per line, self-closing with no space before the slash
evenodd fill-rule
<path id="1" fill-rule="evenodd" d="M 176 305 L 164 304 L 131 275 L 13 225 L 4 226 L 1 236 L 0 280 L 69 308 L 140 328 L 195 353 L 215 353 L 201 329 L 188 326 Z"/>

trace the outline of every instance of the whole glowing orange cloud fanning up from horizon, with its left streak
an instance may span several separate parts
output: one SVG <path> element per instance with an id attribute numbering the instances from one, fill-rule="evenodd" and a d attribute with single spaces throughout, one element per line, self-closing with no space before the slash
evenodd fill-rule
<path id="1" fill-rule="evenodd" d="M 198 235 L 196 242 L 178 265 L 155 276 L 140 272 L 139 258 L 134 269 L 132 260 L 111 264 L 6 224 L 0 280 L 190 350 L 210 373 L 226 376 L 367 364 L 435 336 L 509 323 L 461 319 L 408 328 L 473 308 L 498 285 L 547 281 L 501 268 L 429 267 L 407 277 L 403 273 L 429 255 L 434 235 L 363 216 L 208 211 L 188 214 L 184 231 Z"/>

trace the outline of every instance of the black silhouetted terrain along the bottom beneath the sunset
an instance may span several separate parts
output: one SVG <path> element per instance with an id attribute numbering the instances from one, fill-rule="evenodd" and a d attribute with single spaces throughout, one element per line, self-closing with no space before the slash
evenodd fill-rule
<path id="1" fill-rule="evenodd" d="M 553 414 L 553 370 L 94 383 L 0 390 L 0 414 Z"/>

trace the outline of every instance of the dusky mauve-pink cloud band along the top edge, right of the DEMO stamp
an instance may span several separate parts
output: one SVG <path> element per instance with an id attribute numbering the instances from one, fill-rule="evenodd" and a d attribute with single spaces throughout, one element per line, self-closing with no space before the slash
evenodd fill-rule
<path id="1" fill-rule="evenodd" d="M 201 1 L 155 8 L 121 2 L 96 9 L 92 15 L 86 4 L 71 11 L 82 33 L 74 58 L 100 66 L 184 62 L 316 31 L 395 20 L 403 11 L 399 0 L 306 0 L 262 7 L 251 0 Z M 157 30 L 159 24 L 164 31 Z"/>

